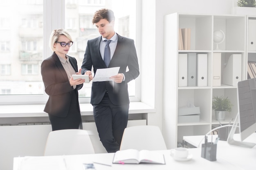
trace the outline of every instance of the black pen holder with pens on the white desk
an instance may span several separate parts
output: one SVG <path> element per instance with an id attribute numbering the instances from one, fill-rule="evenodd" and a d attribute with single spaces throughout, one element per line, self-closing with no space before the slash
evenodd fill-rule
<path id="1" fill-rule="evenodd" d="M 201 157 L 209 161 L 216 161 L 217 144 L 213 142 L 207 142 L 202 144 Z"/>

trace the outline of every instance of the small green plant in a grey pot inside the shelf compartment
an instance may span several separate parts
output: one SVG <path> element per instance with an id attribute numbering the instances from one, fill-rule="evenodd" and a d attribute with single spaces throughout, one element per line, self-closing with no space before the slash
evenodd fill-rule
<path id="1" fill-rule="evenodd" d="M 232 103 L 228 97 L 216 96 L 213 97 L 212 109 L 215 111 L 215 118 L 218 121 L 225 120 L 226 111 L 232 111 Z"/>

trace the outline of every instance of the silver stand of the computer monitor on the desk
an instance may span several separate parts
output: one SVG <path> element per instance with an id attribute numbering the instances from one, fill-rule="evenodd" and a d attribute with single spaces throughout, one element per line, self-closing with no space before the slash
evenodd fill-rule
<path id="1" fill-rule="evenodd" d="M 239 127 L 239 113 L 236 115 L 236 119 L 234 121 L 234 124 L 229 132 L 229 136 L 227 138 L 227 142 L 230 145 L 235 145 L 235 146 L 242 146 L 242 147 L 246 147 L 246 148 L 253 148 L 256 144 L 254 143 L 250 143 L 250 142 L 242 142 L 242 141 L 236 141 L 234 140 L 234 134 L 236 131 L 236 128 Z"/>

